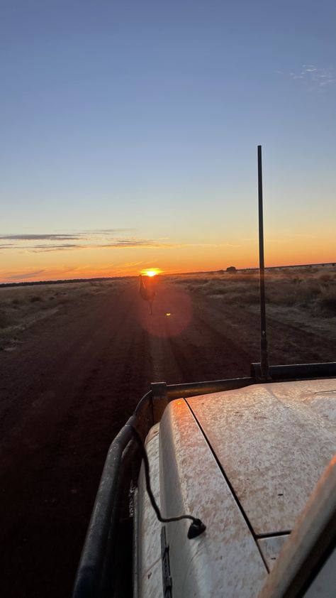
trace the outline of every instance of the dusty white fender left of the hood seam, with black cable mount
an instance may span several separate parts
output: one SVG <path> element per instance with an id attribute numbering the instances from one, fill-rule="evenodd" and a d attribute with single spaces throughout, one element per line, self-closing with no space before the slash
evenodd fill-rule
<path id="1" fill-rule="evenodd" d="M 148 455 L 152 465 L 149 447 Z M 207 526 L 205 533 L 189 540 L 190 521 L 165 524 L 173 595 L 257 596 L 267 568 L 206 439 L 182 399 L 169 403 L 159 426 L 159 469 L 162 515 L 193 513 Z M 139 488 L 143 483 L 141 470 Z M 138 538 L 138 543 L 142 541 L 146 541 L 143 536 Z M 143 574 L 140 577 L 143 580 Z M 141 589 L 139 595 L 154 595 L 148 586 L 154 587 L 155 579 L 142 583 L 148 594 Z"/>

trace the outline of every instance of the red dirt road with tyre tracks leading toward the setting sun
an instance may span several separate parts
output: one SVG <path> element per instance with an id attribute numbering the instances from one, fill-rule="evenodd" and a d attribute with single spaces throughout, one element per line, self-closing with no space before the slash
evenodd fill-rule
<path id="1" fill-rule="evenodd" d="M 150 381 L 248 375 L 258 330 L 257 313 L 178 285 L 158 289 L 150 316 L 131 281 L 69 303 L 1 352 L 2 596 L 71 594 L 108 445 Z M 323 337 L 269 331 L 301 361 L 335 359 Z"/>

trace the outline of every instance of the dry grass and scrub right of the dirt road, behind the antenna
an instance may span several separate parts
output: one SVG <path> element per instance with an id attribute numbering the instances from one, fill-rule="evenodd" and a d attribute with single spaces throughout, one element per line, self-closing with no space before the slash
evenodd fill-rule
<path id="1" fill-rule="evenodd" d="M 294 361 L 302 361 L 300 331 L 335 343 L 335 264 L 301 268 L 269 268 L 265 275 L 267 320 L 281 324 L 284 331 L 287 327 L 291 330 L 290 338 L 283 334 L 281 339 L 272 339 L 279 363 L 289 361 L 289 342 L 294 344 L 296 342 L 298 347 L 297 357 L 293 355 Z M 237 317 L 242 310 L 247 315 L 250 314 L 250 321 L 259 320 L 259 273 L 257 271 L 237 271 L 235 274 L 208 273 L 207 276 L 201 273 L 186 278 L 174 276 L 170 281 L 172 284 L 183 286 L 196 303 L 198 298 L 200 303 L 202 298 L 208 298 L 210 312 L 212 310 L 214 313 L 223 312 L 223 317 L 228 317 L 229 321 L 230 313 L 233 317 Z M 242 334 L 243 330 L 237 330 L 238 337 Z M 323 357 L 318 359 L 321 360 Z"/>

